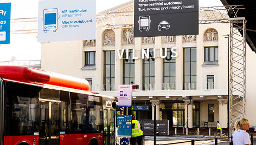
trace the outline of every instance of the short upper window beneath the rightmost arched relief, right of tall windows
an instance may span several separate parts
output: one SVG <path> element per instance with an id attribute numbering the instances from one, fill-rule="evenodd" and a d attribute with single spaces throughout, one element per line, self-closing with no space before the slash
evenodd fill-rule
<path id="1" fill-rule="evenodd" d="M 205 62 L 218 61 L 218 48 L 217 47 L 204 48 L 204 61 Z"/>

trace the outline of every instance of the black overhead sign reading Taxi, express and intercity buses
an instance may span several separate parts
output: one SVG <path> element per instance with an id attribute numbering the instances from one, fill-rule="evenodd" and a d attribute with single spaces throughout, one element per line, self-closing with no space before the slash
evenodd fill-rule
<path id="1" fill-rule="evenodd" d="M 135 0 L 135 37 L 197 35 L 199 0 Z"/>

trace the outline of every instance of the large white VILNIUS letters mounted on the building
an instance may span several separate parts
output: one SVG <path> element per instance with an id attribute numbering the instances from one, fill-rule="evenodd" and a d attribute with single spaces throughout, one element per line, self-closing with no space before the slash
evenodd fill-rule
<path id="1" fill-rule="evenodd" d="M 171 57 L 177 57 L 178 53 L 176 52 L 176 47 L 171 48 Z M 125 49 L 117 49 L 117 54 L 118 54 L 118 58 L 121 60 L 123 58 L 124 55 L 124 50 Z M 150 55 L 150 49 L 142 49 L 142 59 L 149 59 L 149 55 Z M 126 49 L 126 59 L 132 58 L 135 60 L 138 60 L 138 57 L 135 57 L 135 49 L 132 49 L 132 56 L 129 56 L 129 49 Z M 160 48 L 160 57 L 161 58 L 165 58 L 167 57 L 167 48 L 164 48 L 164 53 L 163 53 L 163 48 Z M 156 58 L 156 49 L 153 48 L 153 58 Z"/>

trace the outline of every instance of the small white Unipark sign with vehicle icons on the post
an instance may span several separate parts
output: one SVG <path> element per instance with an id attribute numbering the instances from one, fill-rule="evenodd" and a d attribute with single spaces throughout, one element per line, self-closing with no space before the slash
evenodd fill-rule
<path id="1" fill-rule="evenodd" d="M 132 106 L 132 85 L 118 85 L 118 107 Z"/>

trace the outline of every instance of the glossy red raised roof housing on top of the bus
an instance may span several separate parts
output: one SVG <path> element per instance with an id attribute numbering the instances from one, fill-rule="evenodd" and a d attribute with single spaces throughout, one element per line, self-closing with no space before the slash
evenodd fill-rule
<path id="1" fill-rule="evenodd" d="M 89 83 L 82 79 L 50 71 L 22 66 L 0 66 L 0 78 L 32 84 L 50 84 L 60 87 L 90 91 Z"/>

